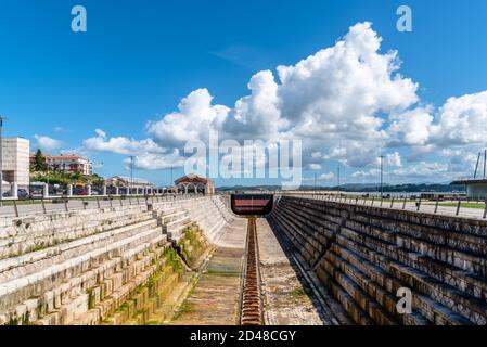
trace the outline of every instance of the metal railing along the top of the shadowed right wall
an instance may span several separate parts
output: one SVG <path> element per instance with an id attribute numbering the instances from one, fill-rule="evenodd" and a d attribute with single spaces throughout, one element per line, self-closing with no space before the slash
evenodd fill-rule
<path id="1" fill-rule="evenodd" d="M 349 194 L 298 194 L 300 198 L 328 201 L 333 203 L 370 206 L 379 208 L 412 210 L 418 213 L 487 219 L 487 201 L 469 200 L 424 200 L 422 197 L 376 197 Z"/>

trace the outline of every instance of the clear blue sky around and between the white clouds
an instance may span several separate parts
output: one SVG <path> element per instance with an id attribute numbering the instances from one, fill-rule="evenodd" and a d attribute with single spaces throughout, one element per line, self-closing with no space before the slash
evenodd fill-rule
<path id="1" fill-rule="evenodd" d="M 75 4 L 88 11 L 87 33 L 71 30 Z M 396 29 L 400 4 L 413 11 L 412 33 Z M 486 14 L 483 0 L 2 0 L 0 114 L 9 118 L 5 134 L 30 139 L 33 150 L 36 134 L 61 142 L 50 152 L 79 151 L 86 139 L 95 137 L 95 129 L 102 129 L 106 139 L 148 139 L 148 121 L 177 111 L 190 92 L 206 88 L 215 104 L 233 107 L 249 93 L 247 83 L 256 73 L 295 65 L 333 47 L 350 26 L 368 21 L 383 38 L 380 52 L 397 50 L 402 62 L 399 73 L 419 83 L 416 105 L 428 104 L 432 117 L 437 117 L 448 98 L 487 89 Z M 482 140 L 457 140 L 447 145 L 437 140 L 434 145 L 445 149 L 451 144 L 452 150 L 463 151 L 460 156 L 485 146 Z M 418 157 L 411 154 L 418 151 L 403 143 L 384 151 L 401 156 L 402 171 L 397 172 L 402 176 L 397 178 L 390 169 L 390 181 L 408 180 L 406 168 L 414 165 L 419 170 L 421 163 L 450 165 L 452 160 L 434 149 L 420 151 Z M 101 175 L 128 174 L 126 154 L 90 151 L 89 155 L 103 162 L 97 169 Z M 333 184 L 331 174 L 339 160 L 343 181 L 376 181 L 373 171 L 353 177 L 370 172 L 373 164 L 360 167 L 338 157 L 315 163 L 320 169 L 307 167 L 305 176 L 323 175 L 323 184 Z M 444 181 L 465 172 L 448 168 L 440 177 L 412 175 L 409 180 Z M 169 182 L 169 171 L 164 169 L 139 169 L 137 176 L 159 184 Z M 220 185 L 236 182 L 217 180 Z M 248 183 L 264 182 L 271 180 Z"/>

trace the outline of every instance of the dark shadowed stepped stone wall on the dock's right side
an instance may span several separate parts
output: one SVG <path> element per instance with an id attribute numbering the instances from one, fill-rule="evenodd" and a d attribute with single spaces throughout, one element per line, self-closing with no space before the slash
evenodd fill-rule
<path id="1" fill-rule="evenodd" d="M 285 196 L 269 219 L 357 324 L 487 323 L 485 221 Z"/>

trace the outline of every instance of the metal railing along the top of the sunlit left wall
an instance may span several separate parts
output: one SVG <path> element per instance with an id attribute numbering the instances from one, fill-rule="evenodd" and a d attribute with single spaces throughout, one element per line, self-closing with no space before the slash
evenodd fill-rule
<path id="1" fill-rule="evenodd" d="M 0 207 L 0 217 L 47 215 L 59 211 L 86 210 L 105 207 L 150 205 L 205 196 L 203 194 L 141 194 L 141 195 L 91 195 L 49 196 L 33 200 L 9 200 Z"/>

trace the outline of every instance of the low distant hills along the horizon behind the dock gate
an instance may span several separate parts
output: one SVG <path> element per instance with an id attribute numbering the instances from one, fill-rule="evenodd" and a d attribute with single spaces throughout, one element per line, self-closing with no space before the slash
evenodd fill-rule
<path id="1" fill-rule="evenodd" d="M 255 185 L 255 187 L 244 187 L 244 185 L 233 185 L 233 187 L 220 187 L 217 188 L 219 192 L 246 192 L 246 191 L 281 191 L 281 185 Z M 344 191 L 344 192 L 377 192 L 380 187 L 377 184 L 362 184 L 362 183 L 350 183 L 343 184 L 339 187 L 313 187 L 313 185 L 303 185 L 299 190 L 303 191 Z M 397 184 L 397 185 L 384 185 L 384 192 L 388 193 L 458 193 L 465 192 L 464 185 L 451 185 L 444 183 L 420 183 L 420 184 Z"/>

